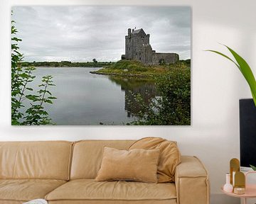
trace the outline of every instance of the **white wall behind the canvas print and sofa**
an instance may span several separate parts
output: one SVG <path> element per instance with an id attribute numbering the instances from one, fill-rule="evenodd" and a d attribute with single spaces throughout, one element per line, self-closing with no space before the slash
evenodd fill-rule
<path id="1" fill-rule="evenodd" d="M 11 6 L 52 4 L 191 6 L 192 125 L 188 127 L 11 127 Z M 211 203 L 224 203 L 223 200 L 225 203 L 231 203 L 227 196 L 222 195 L 220 186 L 225 181 L 229 160 L 233 157 L 239 158 L 238 100 L 251 96 L 245 80 L 231 62 L 203 50 L 223 51 L 225 49 L 218 44 L 222 42 L 244 56 L 256 72 L 255 8 L 255 0 L 1 0 L 0 140 L 108 140 L 138 139 L 146 136 L 176 140 L 182 154 L 196 155 L 206 164 L 210 173 Z"/>

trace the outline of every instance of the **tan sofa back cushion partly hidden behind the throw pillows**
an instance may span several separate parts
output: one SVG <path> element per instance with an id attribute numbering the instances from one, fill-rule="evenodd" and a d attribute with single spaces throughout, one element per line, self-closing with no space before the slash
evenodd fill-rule
<path id="1" fill-rule="evenodd" d="M 128 149 L 134 140 L 82 140 L 75 142 L 70 179 L 95 179 L 102 162 L 103 147 Z"/>

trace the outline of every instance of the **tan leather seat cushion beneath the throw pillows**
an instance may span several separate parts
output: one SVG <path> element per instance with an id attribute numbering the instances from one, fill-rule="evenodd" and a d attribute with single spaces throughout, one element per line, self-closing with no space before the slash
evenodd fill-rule
<path id="1" fill-rule="evenodd" d="M 134 181 L 69 181 L 46 196 L 46 200 L 176 200 L 174 183 Z M 89 202 L 89 201 L 88 201 Z M 103 202 L 103 203 L 104 203 Z"/>

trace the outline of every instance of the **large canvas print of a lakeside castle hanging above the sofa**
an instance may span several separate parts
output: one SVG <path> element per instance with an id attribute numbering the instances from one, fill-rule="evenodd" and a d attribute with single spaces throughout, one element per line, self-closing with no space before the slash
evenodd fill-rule
<path id="1" fill-rule="evenodd" d="M 14 6 L 12 125 L 191 125 L 191 8 Z"/>

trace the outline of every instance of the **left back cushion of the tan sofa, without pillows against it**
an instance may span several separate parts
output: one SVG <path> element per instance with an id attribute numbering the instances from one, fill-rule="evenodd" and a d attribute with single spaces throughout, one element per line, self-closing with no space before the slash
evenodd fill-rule
<path id="1" fill-rule="evenodd" d="M 73 142 L 0 142 L 0 179 L 68 180 Z"/>

